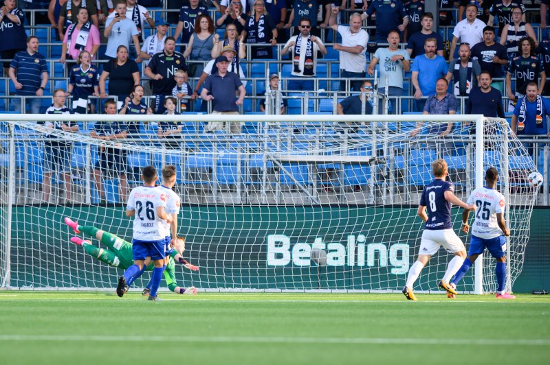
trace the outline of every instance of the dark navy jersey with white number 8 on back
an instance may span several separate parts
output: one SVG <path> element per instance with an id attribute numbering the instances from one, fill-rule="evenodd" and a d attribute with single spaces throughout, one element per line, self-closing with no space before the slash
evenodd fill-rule
<path id="1" fill-rule="evenodd" d="M 454 186 L 448 181 L 434 179 L 424 187 L 420 197 L 420 205 L 426 207 L 428 221 L 425 229 L 437 230 L 452 228 L 451 203 L 445 199 L 445 191 L 454 191 Z"/>

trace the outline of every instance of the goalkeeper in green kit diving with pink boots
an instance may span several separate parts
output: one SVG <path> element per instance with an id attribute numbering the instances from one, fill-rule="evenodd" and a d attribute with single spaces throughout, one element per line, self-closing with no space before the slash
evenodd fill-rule
<path id="1" fill-rule="evenodd" d="M 121 239 L 120 237 L 117 237 L 109 232 L 102 231 L 94 226 L 81 226 L 69 217 L 65 217 L 65 223 L 67 226 L 71 227 L 75 233 L 85 233 L 91 237 L 95 237 L 109 248 L 109 250 L 99 248 L 94 246 L 87 239 L 71 237 L 71 242 L 77 244 L 78 246 L 82 246 L 84 248 L 84 252 L 88 255 L 96 257 L 96 259 L 122 270 L 126 270 L 133 264 L 132 244 L 130 242 L 124 241 L 124 239 Z M 177 239 L 175 239 L 173 252 L 171 252 L 170 255 L 164 259 L 164 265 L 166 265 L 166 270 L 164 270 L 164 280 L 166 281 L 166 286 L 171 292 L 175 292 L 177 294 L 197 294 L 197 289 L 194 286 L 185 288 L 180 287 L 176 283 L 175 261 L 181 263 L 189 270 L 199 270 L 197 266 L 188 263 L 188 261 L 184 259 L 184 251 L 185 239 L 183 237 L 177 237 Z M 145 270 L 153 270 L 153 263 L 150 258 L 146 259 L 145 266 Z M 148 296 L 150 291 L 151 281 L 149 281 L 143 290 L 143 295 Z"/>

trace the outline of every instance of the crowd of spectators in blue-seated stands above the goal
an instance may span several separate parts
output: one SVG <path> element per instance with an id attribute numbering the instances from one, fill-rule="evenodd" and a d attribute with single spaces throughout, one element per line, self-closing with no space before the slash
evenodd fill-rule
<path id="1" fill-rule="evenodd" d="M 549 2 L 439 0 L 434 19 L 423 0 L 3 0 L 0 113 L 472 113 L 550 137 Z M 300 93 L 313 108 L 296 107 Z M 96 123 L 91 136 L 148 127 Z"/>

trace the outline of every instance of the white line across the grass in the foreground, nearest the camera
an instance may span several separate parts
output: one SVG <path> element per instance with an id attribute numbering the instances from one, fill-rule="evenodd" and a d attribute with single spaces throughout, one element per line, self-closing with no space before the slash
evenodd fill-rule
<path id="1" fill-rule="evenodd" d="M 0 335 L 0 341 L 38 342 L 217 342 L 258 344 L 419 344 L 477 346 L 550 346 L 542 339 L 441 339 L 441 338 L 302 338 L 233 336 L 113 336 L 113 335 Z"/>

